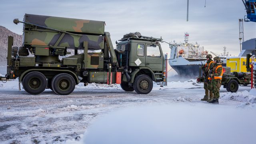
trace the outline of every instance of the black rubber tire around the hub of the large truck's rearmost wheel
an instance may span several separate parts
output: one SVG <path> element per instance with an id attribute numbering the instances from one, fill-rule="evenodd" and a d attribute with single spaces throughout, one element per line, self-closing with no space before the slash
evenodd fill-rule
<path id="1" fill-rule="evenodd" d="M 37 77 L 40 79 L 41 85 L 39 86 L 38 89 L 30 88 L 29 80 L 31 77 Z M 44 74 L 42 74 L 41 72 L 30 72 L 24 76 L 24 78 L 22 80 L 22 84 L 24 84 L 22 86 L 26 92 L 28 92 L 29 94 L 37 95 L 37 94 L 41 94 L 46 89 L 47 79 L 44 76 Z"/>

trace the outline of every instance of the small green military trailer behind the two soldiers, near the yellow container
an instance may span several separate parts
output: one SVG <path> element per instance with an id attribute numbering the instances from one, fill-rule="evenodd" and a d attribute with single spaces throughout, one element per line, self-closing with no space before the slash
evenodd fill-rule
<path id="1" fill-rule="evenodd" d="M 250 72 L 230 72 L 230 67 L 223 67 L 224 73 L 222 76 L 221 84 L 228 92 L 237 92 L 239 85 L 247 86 L 251 83 Z M 201 68 L 200 68 L 201 70 Z M 204 76 L 197 77 L 197 82 L 204 82 Z"/>

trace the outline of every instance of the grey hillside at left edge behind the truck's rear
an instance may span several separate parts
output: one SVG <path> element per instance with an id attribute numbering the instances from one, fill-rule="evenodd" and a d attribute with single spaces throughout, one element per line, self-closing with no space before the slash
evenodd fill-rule
<path id="1" fill-rule="evenodd" d="M 14 37 L 13 46 L 22 45 L 22 35 L 16 34 L 4 26 L 0 26 L 0 66 L 6 66 L 8 36 Z"/>

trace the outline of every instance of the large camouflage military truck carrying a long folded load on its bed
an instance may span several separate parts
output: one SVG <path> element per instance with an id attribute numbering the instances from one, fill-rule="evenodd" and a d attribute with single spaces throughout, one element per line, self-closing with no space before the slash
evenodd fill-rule
<path id="1" fill-rule="evenodd" d="M 124 91 L 148 94 L 153 81 L 166 81 L 162 38 L 122 38 L 114 49 L 103 21 L 25 14 L 23 21 L 14 19 L 14 23 L 23 23 L 19 50 L 28 50 L 29 55 L 13 54 L 9 36 L 7 74 L 0 78 L 18 78 L 29 94 L 50 88 L 68 95 L 80 82 L 120 84 Z M 74 54 L 66 56 L 71 50 Z"/>

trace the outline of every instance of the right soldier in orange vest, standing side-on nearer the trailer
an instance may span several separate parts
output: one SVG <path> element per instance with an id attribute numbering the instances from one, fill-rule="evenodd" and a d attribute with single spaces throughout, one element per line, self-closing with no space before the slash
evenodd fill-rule
<path id="1" fill-rule="evenodd" d="M 220 98 L 220 86 L 221 86 L 221 79 L 223 75 L 223 68 L 220 62 L 220 57 L 216 56 L 214 58 L 214 66 L 212 68 L 212 74 L 210 74 L 209 79 L 212 78 L 212 88 L 214 98 L 210 101 L 213 104 L 219 104 Z"/>

